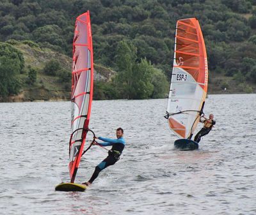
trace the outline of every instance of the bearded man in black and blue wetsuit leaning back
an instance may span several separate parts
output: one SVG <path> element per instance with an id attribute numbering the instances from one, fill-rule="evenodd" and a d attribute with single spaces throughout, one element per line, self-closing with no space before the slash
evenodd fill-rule
<path id="1" fill-rule="evenodd" d="M 102 138 L 99 137 L 97 139 L 100 139 L 104 142 L 99 143 L 102 147 L 108 147 L 112 146 L 111 150 L 108 151 L 108 157 L 106 157 L 98 166 L 95 167 L 95 171 L 88 182 L 84 182 L 83 184 L 86 184 L 86 186 L 90 186 L 93 181 L 98 177 L 100 171 L 104 170 L 110 165 L 113 165 L 116 163 L 116 161 L 119 160 L 120 155 L 122 154 L 124 147 L 125 147 L 125 140 L 123 138 L 124 136 L 124 130 L 122 128 L 116 129 L 116 138 L 117 139 L 110 139 L 110 138 Z"/>

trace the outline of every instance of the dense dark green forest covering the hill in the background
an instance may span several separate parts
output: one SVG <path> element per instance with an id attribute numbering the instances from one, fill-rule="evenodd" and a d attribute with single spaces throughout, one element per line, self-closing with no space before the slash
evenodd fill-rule
<path id="1" fill-rule="evenodd" d="M 255 0 L 3 0 L 0 41 L 31 40 L 71 56 L 74 22 L 86 10 L 91 14 L 95 63 L 116 70 L 119 45 L 126 41 L 135 47 L 140 66 L 147 61 L 170 81 L 175 23 L 197 17 L 210 72 L 256 83 Z M 102 92 L 111 84 L 117 88 L 113 81 Z"/>

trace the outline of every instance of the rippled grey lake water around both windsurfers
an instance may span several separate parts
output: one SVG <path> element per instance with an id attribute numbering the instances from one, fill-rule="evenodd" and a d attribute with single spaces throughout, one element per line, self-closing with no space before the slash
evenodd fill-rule
<path id="1" fill-rule="evenodd" d="M 0 214 L 256 214 L 256 95 L 209 95 L 216 126 L 199 150 L 179 151 L 164 119 L 167 99 L 93 101 L 90 128 L 115 138 L 122 158 L 84 193 L 69 180 L 70 102 L 0 104 Z M 198 126 L 198 129 L 200 129 Z M 76 182 L 107 155 L 92 147 Z"/>

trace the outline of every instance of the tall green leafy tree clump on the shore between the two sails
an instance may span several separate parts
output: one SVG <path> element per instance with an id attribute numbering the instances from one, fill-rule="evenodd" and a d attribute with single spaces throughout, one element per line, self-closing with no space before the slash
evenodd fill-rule
<path id="1" fill-rule="evenodd" d="M 136 47 L 131 42 L 122 41 L 118 45 L 116 65 L 119 71 L 116 83 L 122 90 L 122 98 L 148 99 L 153 94 L 154 97 L 157 97 L 159 93 L 162 93 L 160 89 L 156 89 L 154 92 L 154 86 L 158 87 L 159 85 L 156 81 L 152 81 L 154 73 L 159 71 L 146 58 L 141 59 L 138 63 Z M 156 74 L 156 77 L 159 76 L 161 74 Z"/>

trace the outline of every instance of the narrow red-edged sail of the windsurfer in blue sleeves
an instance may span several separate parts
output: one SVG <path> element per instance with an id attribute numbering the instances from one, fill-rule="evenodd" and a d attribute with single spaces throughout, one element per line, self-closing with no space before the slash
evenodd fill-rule
<path id="1" fill-rule="evenodd" d="M 72 113 L 69 145 L 70 181 L 76 178 L 88 129 L 93 96 L 93 48 L 89 11 L 79 15 L 73 40 Z M 77 129 L 79 129 L 77 131 Z"/>

